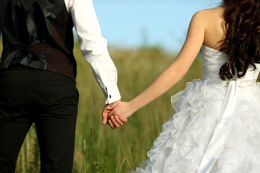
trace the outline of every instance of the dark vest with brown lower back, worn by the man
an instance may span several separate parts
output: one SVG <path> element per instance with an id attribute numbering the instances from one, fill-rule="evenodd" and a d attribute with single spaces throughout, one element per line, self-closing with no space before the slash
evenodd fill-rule
<path id="1" fill-rule="evenodd" d="M 73 22 L 64 0 L 0 0 L 0 70 L 20 63 L 76 78 Z"/>

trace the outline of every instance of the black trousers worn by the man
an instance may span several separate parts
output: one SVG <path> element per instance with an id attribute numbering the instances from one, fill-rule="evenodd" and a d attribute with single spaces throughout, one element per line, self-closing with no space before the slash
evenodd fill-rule
<path id="1" fill-rule="evenodd" d="M 70 78 L 29 67 L 0 72 L 0 173 L 14 173 L 35 123 L 41 173 L 71 173 L 78 91 Z"/>

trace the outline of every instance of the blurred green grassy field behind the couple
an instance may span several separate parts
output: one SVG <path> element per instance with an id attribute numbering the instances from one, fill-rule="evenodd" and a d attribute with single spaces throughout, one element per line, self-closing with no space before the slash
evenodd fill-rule
<path id="1" fill-rule="evenodd" d="M 130 100 L 146 87 L 174 60 L 175 55 L 158 47 L 138 49 L 110 48 L 118 71 L 122 100 Z M 78 63 L 77 88 L 80 92 L 76 129 L 74 173 L 127 173 L 146 160 L 146 152 L 172 114 L 170 96 L 183 89 L 188 81 L 202 79 L 199 55 L 188 74 L 176 86 L 130 117 L 119 129 L 102 125 L 104 95 L 96 83 L 89 64 L 75 47 Z M 84 148 L 84 140 L 85 148 Z M 85 155 L 85 159 L 84 159 Z M 35 128 L 29 131 L 17 161 L 16 173 L 38 173 L 39 149 Z"/>

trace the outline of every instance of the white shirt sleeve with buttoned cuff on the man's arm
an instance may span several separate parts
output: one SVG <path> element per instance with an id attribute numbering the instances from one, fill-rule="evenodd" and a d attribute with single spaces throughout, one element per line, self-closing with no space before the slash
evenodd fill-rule
<path id="1" fill-rule="evenodd" d="M 117 71 L 101 34 L 93 0 L 65 0 L 65 4 L 72 16 L 82 55 L 90 63 L 94 77 L 104 92 L 105 103 L 119 100 Z"/>

